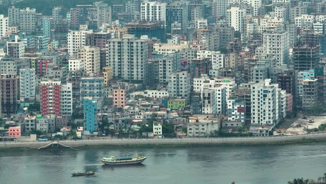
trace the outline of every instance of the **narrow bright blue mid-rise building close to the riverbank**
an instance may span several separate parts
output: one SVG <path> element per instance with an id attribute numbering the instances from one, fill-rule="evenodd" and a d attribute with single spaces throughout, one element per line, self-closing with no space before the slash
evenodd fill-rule
<path id="1" fill-rule="evenodd" d="M 84 131 L 97 131 L 97 100 L 92 97 L 84 98 Z"/>

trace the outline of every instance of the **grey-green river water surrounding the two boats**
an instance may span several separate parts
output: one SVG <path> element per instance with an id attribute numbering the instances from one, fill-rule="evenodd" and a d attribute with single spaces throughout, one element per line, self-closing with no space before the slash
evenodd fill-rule
<path id="1" fill-rule="evenodd" d="M 105 166 L 103 156 L 146 155 L 139 166 Z M 324 143 L 283 146 L 93 148 L 0 152 L 0 183 L 287 183 L 326 172 Z M 95 171 L 71 177 L 71 172 Z"/>

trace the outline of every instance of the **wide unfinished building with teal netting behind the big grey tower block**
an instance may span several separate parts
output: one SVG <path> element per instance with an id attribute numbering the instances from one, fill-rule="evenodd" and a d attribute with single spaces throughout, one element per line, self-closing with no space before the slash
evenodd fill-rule
<path id="1" fill-rule="evenodd" d="M 164 21 L 140 21 L 140 22 L 129 22 L 124 25 L 128 29 L 128 34 L 140 36 L 147 35 L 148 38 L 158 38 L 162 42 L 165 42 L 165 26 Z"/>

